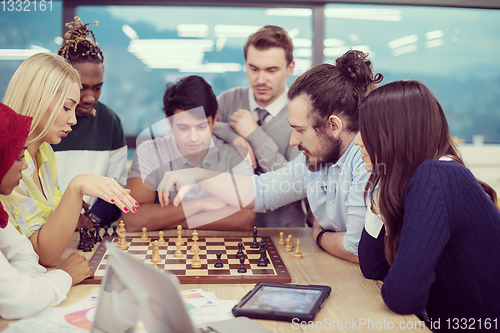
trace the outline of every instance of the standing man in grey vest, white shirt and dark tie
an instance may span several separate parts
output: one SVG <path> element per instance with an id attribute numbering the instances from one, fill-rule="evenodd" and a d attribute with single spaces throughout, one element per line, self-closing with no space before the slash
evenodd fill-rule
<path id="1" fill-rule="evenodd" d="M 289 144 L 286 79 L 293 74 L 293 43 L 286 31 L 265 26 L 250 35 L 244 46 L 250 87 L 224 91 L 217 98 L 219 118 L 214 134 L 248 150 L 256 174 L 277 170 L 299 155 Z M 257 213 L 259 227 L 302 227 L 303 202 Z"/>

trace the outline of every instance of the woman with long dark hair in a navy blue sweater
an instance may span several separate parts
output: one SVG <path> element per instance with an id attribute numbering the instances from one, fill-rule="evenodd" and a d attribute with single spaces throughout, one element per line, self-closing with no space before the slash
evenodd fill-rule
<path id="1" fill-rule="evenodd" d="M 386 84 L 363 101 L 359 126 L 371 172 L 364 276 L 383 280 L 391 310 L 422 315 L 431 329 L 484 329 L 488 318 L 498 329 L 496 193 L 464 166 L 434 95 L 417 81 Z"/>

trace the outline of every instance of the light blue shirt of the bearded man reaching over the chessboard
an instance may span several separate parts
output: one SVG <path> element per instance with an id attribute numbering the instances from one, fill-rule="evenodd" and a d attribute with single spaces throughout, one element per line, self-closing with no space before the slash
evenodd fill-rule
<path id="1" fill-rule="evenodd" d="M 254 175 L 253 210 L 274 210 L 307 197 L 318 223 L 326 230 L 345 231 L 344 248 L 357 255 L 366 215 L 364 191 L 370 177 L 361 156 L 360 147 L 351 142 L 328 168 L 309 171 L 300 154 L 281 169 Z"/>

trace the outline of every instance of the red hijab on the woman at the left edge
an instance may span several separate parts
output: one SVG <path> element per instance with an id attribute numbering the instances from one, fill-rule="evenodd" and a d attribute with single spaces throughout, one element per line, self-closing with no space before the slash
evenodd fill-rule
<path id="1" fill-rule="evenodd" d="M 0 103 L 0 183 L 26 144 L 31 120 Z M 5 228 L 8 222 L 9 215 L 0 202 L 0 227 Z"/>

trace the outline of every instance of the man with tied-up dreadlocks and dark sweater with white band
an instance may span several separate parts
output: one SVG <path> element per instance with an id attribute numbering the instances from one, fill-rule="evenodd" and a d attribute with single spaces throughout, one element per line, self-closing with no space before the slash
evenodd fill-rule
<path id="1" fill-rule="evenodd" d="M 76 107 L 77 124 L 60 144 L 52 147 L 59 166 L 62 191 L 79 174 L 114 178 L 122 186 L 127 181 L 127 145 L 120 119 L 98 102 L 103 85 L 104 55 L 97 46 L 94 33 L 87 28 L 89 24 L 97 26 L 97 21 L 83 24 L 79 17 L 75 17 L 75 22 L 67 23 L 69 31 L 64 35 L 66 40 L 58 52 L 80 73 L 82 81 L 80 102 Z M 89 34 L 93 41 L 87 38 Z M 82 225 L 93 227 L 88 216 L 98 217 L 104 225 L 120 217 L 120 210 L 102 199 L 84 197 L 84 200 L 87 214 L 80 215 L 77 229 Z"/>

